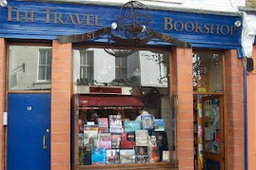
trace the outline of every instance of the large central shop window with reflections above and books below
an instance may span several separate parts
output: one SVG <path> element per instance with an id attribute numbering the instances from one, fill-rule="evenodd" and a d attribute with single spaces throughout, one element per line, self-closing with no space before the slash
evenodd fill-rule
<path id="1" fill-rule="evenodd" d="M 73 50 L 72 164 L 77 169 L 157 162 L 171 167 L 176 132 L 168 52 L 137 50 L 121 58 L 104 48 L 87 50 L 94 54 L 95 80 L 90 83 L 78 78 L 81 49 Z"/>

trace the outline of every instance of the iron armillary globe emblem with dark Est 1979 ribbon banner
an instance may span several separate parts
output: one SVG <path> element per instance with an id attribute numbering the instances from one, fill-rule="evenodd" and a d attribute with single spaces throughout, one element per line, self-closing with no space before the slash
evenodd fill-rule
<path id="1" fill-rule="evenodd" d="M 100 28 L 88 33 L 58 36 L 57 38 L 59 43 L 76 43 L 110 34 L 111 39 L 119 45 L 141 46 L 152 38 L 157 38 L 176 47 L 191 48 L 190 43 L 153 30 L 151 23 L 151 11 L 144 4 L 131 0 L 121 8 L 119 18 L 116 23 L 111 24 L 111 28 Z"/>

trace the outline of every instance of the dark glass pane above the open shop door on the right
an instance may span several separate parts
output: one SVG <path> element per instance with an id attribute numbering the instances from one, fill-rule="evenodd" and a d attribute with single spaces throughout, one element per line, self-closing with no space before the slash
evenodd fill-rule
<path id="1" fill-rule="evenodd" d="M 223 91 L 222 54 L 193 53 L 193 88 L 197 92 Z"/>

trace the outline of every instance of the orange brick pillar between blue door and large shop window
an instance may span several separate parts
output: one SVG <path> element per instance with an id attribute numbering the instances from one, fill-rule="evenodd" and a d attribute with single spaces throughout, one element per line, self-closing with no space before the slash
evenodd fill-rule
<path id="1" fill-rule="evenodd" d="M 71 44 L 52 43 L 51 170 L 70 169 Z"/>

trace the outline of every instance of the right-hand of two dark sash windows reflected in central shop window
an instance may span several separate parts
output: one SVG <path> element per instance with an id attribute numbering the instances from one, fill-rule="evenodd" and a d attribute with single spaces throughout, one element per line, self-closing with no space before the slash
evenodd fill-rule
<path id="1" fill-rule="evenodd" d="M 115 77 L 116 78 L 128 78 L 128 58 L 116 57 L 115 58 Z"/>

